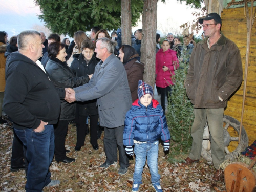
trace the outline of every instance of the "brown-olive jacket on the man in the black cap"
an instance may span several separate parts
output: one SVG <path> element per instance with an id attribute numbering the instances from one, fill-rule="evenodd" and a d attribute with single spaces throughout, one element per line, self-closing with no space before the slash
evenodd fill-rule
<path id="1" fill-rule="evenodd" d="M 207 40 L 200 41 L 191 53 L 185 81 L 187 96 L 195 108 L 225 108 L 243 79 L 240 51 L 222 33 L 210 49 Z"/>

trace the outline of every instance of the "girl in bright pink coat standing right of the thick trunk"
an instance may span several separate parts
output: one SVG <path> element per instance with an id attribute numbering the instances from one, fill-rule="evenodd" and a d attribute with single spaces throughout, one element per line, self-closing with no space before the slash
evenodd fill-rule
<path id="1" fill-rule="evenodd" d="M 179 68 L 176 51 L 170 50 L 170 42 L 165 39 L 162 48 L 156 54 L 156 86 L 161 89 L 161 106 L 165 112 L 165 95 L 169 99 L 172 93 L 174 71 Z"/>

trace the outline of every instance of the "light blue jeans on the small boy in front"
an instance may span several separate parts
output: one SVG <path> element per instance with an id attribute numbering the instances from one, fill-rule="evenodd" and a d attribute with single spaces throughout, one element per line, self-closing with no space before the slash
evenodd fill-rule
<path id="1" fill-rule="evenodd" d="M 133 181 L 142 181 L 143 167 L 146 163 L 150 168 L 151 182 L 155 184 L 159 182 L 160 175 L 158 174 L 158 141 L 154 143 L 134 143 L 135 169 L 133 174 Z"/>

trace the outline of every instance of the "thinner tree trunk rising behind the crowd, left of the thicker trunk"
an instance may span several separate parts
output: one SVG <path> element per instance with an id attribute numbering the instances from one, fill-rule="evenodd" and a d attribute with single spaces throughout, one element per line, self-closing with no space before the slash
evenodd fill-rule
<path id="1" fill-rule="evenodd" d="M 131 45 L 132 32 L 131 0 L 121 0 L 122 45 Z"/>

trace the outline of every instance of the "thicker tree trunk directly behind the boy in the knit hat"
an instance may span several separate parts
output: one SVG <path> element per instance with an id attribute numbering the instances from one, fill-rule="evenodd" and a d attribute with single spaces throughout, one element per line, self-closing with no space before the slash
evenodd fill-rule
<path id="1" fill-rule="evenodd" d="M 143 79 L 154 88 L 156 71 L 157 0 L 144 0 L 142 15 L 141 62 L 145 63 Z"/>

